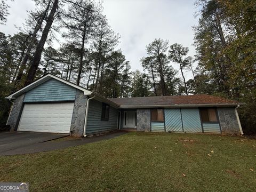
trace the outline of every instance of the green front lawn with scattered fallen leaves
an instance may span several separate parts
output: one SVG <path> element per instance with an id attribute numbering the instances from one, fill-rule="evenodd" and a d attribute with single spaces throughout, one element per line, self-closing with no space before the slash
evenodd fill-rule
<path id="1" fill-rule="evenodd" d="M 0 157 L 0 181 L 30 191 L 255 191 L 255 170 L 256 140 L 203 134 L 133 132 Z"/>

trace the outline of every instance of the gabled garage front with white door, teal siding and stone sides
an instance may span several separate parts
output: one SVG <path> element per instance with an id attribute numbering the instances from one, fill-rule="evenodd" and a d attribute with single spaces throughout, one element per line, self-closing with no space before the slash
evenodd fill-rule
<path id="1" fill-rule="evenodd" d="M 48 74 L 7 98 L 14 101 L 7 125 L 11 131 L 81 137 L 88 95 L 83 87 Z"/>

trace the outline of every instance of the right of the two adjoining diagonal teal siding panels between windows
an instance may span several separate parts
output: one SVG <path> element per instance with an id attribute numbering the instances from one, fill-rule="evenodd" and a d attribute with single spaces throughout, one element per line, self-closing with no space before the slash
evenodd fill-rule
<path id="1" fill-rule="evenodd" d="M 201 119 L 197 108 L 181 109 L 184 132 L 202 132 Z"/>

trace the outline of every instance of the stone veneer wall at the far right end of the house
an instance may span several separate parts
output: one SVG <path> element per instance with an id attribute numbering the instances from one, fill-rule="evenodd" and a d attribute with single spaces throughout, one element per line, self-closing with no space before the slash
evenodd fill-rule
<path id="1" fill-rule="evenodd" d="M 218 115 L 222 133 L 240 134 L 234 107 L 218 108 Z"/>

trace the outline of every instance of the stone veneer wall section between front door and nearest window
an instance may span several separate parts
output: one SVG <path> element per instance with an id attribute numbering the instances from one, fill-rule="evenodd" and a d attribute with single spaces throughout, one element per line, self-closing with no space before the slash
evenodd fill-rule
<path id="1" fill-rule="evenodd" d="M 150 131 L 150 109 L 137 109 L 137 131 Z"/>

